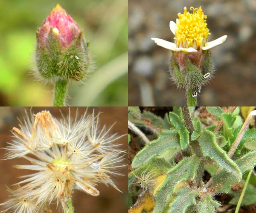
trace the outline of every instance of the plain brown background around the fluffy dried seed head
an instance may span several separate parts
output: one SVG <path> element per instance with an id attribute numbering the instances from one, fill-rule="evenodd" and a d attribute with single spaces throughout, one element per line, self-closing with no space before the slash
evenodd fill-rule
<path id="1" fill-rule="evenodd" d="M 0 107 L 0 147 L 5 147 L 7 141 L 11 141 L 12 127 L 18 127 L 17 117 L 23 119 L 25 115 L 24 109 L 30 110 L 29 107 Z M 70 107 L 71 115 L 75 115 L 77 107 Z M 79 114 L 83 114 L 85 107 L 79 107 Z M 112 133 L 118 132 L 119 135 L 127 133 L 127 107 L 94 107 L 95 112 L 103 112 L 100 115 L 101 125 L 106 124 L 110 127 L 115 121 L 116 125 L 112 129 Z M 32 112 L 40 112 L 41 110 L 49 110 L 55 117 L 61 117 L 58 107 L 33 107 Z M 93 108 L 89 108 L 88 112 L 92 112 Z M 61 107 L 61 112 L 68 115 L 68 107 Z M 127 150 L 127 136 L 119 139 L 117 143 L 122 144 L 122 149 Z M 5 150 L 0 149 L 0 159 L 3 159 Z M 125 158 L 125 163 L 127 159 Z M 12 167 L 14 164 L 27 164 L 24 159 L 0 160 L 0 203 L 7 200 L 6 186 L 11 186 L 19 181 L 18 177 L 28 174 L 28 170 L 18 170 Z M 98 189 L 100 196 L 93 197 L 86 193 L 75 191 L 73 195 L 73 204 L 76 213 L 125 213 L 127 205 L 125 197 L 127 194 L 127 167 L 122 169 L 124 176 L 116 177 L 116 183 L 123 193 L 99 184 Z M 0 211 L 3 210 L 0 206 Z M 57 213 L 55 207 L 52 206 L 53 213 Z"/>

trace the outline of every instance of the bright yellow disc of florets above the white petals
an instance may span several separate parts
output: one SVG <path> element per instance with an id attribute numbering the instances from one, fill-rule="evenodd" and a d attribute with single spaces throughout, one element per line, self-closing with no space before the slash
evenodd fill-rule
<path id="1" fill-rule="evenodd" d="M 190 7 L 193 13 L 187 12 L 184 7 L 184 13 L 178 14 L 176 21 L 175 40 L 178 47 L 194 47 L 200 49 L 207 42 L 209 29 L 207 28 L 206 18 L 202 8 Z"/>

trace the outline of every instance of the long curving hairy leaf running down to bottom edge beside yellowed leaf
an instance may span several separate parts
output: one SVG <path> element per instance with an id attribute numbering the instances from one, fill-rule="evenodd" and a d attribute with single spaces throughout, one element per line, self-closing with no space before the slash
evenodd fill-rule
<path id="1" fill-rule="evenodd" d="M 166 204 L 169 203 L 172 197 L 172 191 L 175 186 L 183 180 L 194 178 L 200 158 L 192 156 L 183 158 L 175 167 L 173 167 L 167 174 L 167 177 L 161 187 L 157 190 L 155 196 L 156 206 L 153 213 L 163 213 Z"/>

